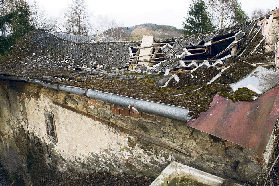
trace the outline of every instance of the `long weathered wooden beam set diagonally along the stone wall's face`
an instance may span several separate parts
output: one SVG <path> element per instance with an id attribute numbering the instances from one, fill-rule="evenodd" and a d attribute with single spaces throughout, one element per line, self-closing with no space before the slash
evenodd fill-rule
<path id="1" fill-rule="evenodd" d="M 167 149 L 169 149 L 171 151 L 181 152 L 181 153 L 184 153 L 186 155 L 189 155 L 189 153 L 185 149 L 179 147 L 178 145 L 176 145 L 175 143 L 173 143 L 171 141 L 168 141 L 168 140 L 165 140 L 165 139 L 162 139 L 162 138 L 158 138 L 158 137 L 154 137 L 154 136 L 150 136 L 148 134 L 145 134 L 143 132 L 127 128 L 125 126 L 116 125 L 116 124 L 110 122 L 109 120 L 106 120 L 104 118 L 100 118 L 100 117 L 98 117 L 96 115 L 89 114 L 87 112 L 83 112 L 83 111 L 77 110 L 76 108 L 70 107 L 68 105 L 64 105 L 64 104 L 61 104 L 61 103 L 58 103 L 58 102 L 55 102 L 55 101 L 52 101 L 52 103 L 54 105 L 60 106 L 62 108 L 70 110 L 72 112 L 76 112 L 78 114 L 81 114 L 82 116 L 85 116 L 85 117 L 90 118 L 92 120 L 95 120 L 95 121 L 98 121 L 100 123 L 103 123 L 103 124 L 105 124 L 107 126 L 110 126 L 110 127 L 115 128 L 117 130 L 125 132 L 125 133 L 127 133 L 129 135 L 135 136 L 136 138 L 140 138 L 140 139 L 143 139 L 145 141 L 151 142 L 151 143 L 153 143 L 155 145 L 159 145 L 161 147 L 165 147 L 165 148 L 167 148 Z"/>

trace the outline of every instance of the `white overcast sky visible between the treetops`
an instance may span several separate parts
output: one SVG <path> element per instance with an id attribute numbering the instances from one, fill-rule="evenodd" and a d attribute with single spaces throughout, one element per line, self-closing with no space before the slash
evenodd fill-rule
<path id="1" fill-rule="evenodd" d="M 183 17 L 187 15 L 187 9 L 191 0 L 183 1 L 90 1 L 85 0 L 88 9 L 93 12 L 93 19 L 97 15 L 108 16 L 110 20 L 123 23 L 124 27 L 139 25 L 142 23 L 154 23 L 157 25 L 171 25 L 176 28 L 183 28 Z M 63 11 L 71 0 L 37 0 L 41 7 L 44 7 L 48 16 L 62 19 Z M 278 0 L 238 0 L 242 9 L 250 16 L 255 8 L 275 9 L 279 7 Z"/>

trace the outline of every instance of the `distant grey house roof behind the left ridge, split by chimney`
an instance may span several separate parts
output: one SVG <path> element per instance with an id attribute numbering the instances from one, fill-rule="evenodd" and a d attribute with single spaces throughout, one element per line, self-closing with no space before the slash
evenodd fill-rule
<path id="1" fill-rule="evenodd" d="M 65 33 L 65 32 L 48 32 L 61 39 L 65 39 L 67 41 L 72 41 L 75 43 L 94 43 L 96 42 L 95 35 L 80 35 L 80 34 L 73 34 L 73 33 Z M 114 42 L 116 41 L 112 37 L 102 37 L 103 42 Z"/>

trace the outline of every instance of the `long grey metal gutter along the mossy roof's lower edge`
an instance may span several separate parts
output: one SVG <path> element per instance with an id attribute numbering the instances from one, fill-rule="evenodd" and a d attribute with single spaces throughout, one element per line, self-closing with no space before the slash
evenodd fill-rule
<path id="1" fill-rule="evenodd" d="M 110 102 L 113 104 L 121 105 L 128 107 L 129 105 L 133 106 L 134 108 L 147 112 L 156 114 L 159 116 L 163 116 L 166 118 L 172 118 L 180 121 L 189 121 L 192 116 L 188 116 L 189 108 L 184 108 L 180 106 L 169 105 L 165 103 L 153 102 L 148 100 L 142 100 L 138 98 L 132 98 L 128 96 L 122 96 L 118 94 L 112 94 L 108 92 L 102 92 L 98 90 L 80 88 L 75 86 L 67 86 L 62 84 L 52 84 L 43 82 L 42 80 L 33 80 L 30 78 L 22 77 L 22 76 L 3 76 L 0 75 L 1 79 L 7 80 L 17 80 L 17 81 L 25 81 L 34 84 L 39 84 L 48 88 L 61 90 L 65 92 L 70 92 L 73 94 L 79 94 L 83 96 L 87 96 L 90 98 L 103 100 L 106 102 Z"/>

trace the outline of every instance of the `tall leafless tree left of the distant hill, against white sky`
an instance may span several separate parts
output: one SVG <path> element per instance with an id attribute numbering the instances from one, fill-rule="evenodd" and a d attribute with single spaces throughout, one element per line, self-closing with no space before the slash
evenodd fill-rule
<path id="1" fill-rule="evenodd" d="M 70 33 L 89 33 L 91 15 L 84 0 L 72 0 L 68 10 L 64 13 L 62 26 Z"/>

